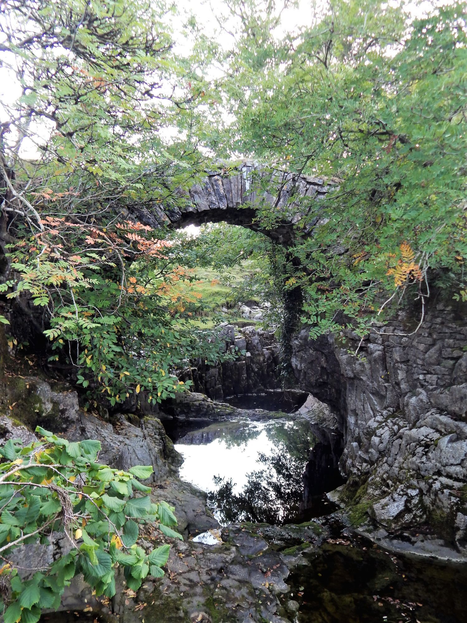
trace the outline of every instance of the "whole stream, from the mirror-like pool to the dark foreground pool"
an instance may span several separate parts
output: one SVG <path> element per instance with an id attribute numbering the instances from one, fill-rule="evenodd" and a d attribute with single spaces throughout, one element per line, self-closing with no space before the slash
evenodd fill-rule
<path id="1" fill-rule="evenodd" d="M 329 529 L 330 537 L 304 554 L 287 580 L 296 623 L 467 621 L 466 564 L 386 551 L 347 528 L 322 492 L 304 508 L 303 472 L 317 440 L 305 417 L 277 412 L 296 406 L 278 407 L 270 396 L 229 402 L 271 411 L 253 421 L 170 422 L 167 434 L 184 458 L 182 480 L 207 492 L 220 525 L 286 525 L 319 517 Z"/>

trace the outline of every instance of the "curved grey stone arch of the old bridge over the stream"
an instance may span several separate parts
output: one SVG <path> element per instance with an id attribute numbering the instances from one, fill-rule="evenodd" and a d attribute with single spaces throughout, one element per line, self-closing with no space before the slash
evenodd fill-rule
<path id="1" fill-rule="evenodd" d="M 183 193 L 182 207 L 163 209 L 151 202 L 132 206 L 130 213 L 139 222 L 157 229 L 227 222 L 262 232 L 271 239 L 291 246 L 308 237 L 321 219 L 320 202 L 336 188 L 337 181 L 266 169 L 245 161 L 234 171 L 208 173 L 200 184 Z M 258 211 L 267 214 L 257 219 Z M 303 226 L 300 222 L 306 219 Z"/>

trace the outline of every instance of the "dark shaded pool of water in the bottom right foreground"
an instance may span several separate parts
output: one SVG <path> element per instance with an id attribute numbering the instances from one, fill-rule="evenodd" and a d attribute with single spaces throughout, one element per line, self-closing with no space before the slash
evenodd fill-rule
<path id="1" fill-rule="evenodd" d="M 298 623 L 465 623 L 467 565 L 396 556 L 341 536 L 305 554 L 287 583 Z"/>

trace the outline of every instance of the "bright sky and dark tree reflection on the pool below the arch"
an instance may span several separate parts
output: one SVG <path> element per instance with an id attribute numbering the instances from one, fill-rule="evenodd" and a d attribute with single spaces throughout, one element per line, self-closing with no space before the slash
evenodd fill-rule
<path id="1" fill-rule="evenodd" d="M 176 443 L 181 478 L 208 492 L 222 524 L 288 523 L 300 516 L 315 438 L 307 421 L 217 422 Z"/>

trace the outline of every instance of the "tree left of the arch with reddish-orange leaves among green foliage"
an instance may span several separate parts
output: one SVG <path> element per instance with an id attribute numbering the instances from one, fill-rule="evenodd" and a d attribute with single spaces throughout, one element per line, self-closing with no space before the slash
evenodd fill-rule
<path id="1" fill-rule="evenodd" d="M 0 16 L 2 71 L 21 89 L 0 133 L 0 292 L 49 338 L 50 365 L 70 366 L 90 399 L 111 406 L 140 391 L 174 396 L 183 359 L 219 351 L 193 331 L 194 300 L 173 288 L 180 269 L 162 240 L 159 204 L 182 204 L 204 162 L 196 106 L 210 59 L 207 46 L 203 62 L 176 57 L 174 11 L 13 0 Z"/>

